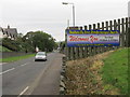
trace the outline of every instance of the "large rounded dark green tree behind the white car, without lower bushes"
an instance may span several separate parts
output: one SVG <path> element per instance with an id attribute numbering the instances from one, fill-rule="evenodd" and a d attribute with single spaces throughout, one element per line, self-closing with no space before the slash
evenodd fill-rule
<path id="1" fill-rule="evenodd" d="M 55 39 L 51 34 L 43 31 L 30 31 L 25 37 L 23 37 L 25 42 L 28 42 L 32 48 L 39 47 L 40 51 L 52 52 L 55 47 Z"/>

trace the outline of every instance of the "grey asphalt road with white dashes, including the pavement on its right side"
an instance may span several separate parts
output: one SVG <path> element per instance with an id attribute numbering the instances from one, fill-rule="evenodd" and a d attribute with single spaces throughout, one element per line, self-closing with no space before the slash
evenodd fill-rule
<path id="1" fill-rule="evenodd" d="M 35 57 L 2 65 L 3 95 L 58 95 L 62 54 L 48 54 L 47 61 Z"/>

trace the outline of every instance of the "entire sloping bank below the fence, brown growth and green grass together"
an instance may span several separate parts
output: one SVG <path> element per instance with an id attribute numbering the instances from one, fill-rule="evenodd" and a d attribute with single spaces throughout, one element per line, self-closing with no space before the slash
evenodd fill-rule
<path id="1" fill-rule="evenodd" d="M 66 95 L 126 95 L 128 92 L 128 48 L 70 60 L 66 65 Z"/>

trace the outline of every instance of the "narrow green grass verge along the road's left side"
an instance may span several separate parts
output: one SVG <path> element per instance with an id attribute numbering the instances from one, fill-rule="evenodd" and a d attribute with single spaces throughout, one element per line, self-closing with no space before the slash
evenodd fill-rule
<path id="1" fill-rule="evenodd" d="M 0 58 L 0 61 L 2 63 L 11 63 L 11 61 L 16 61 L 25 58 L 29 58 L 35 56 L 35 54 L 29 54 L 29 55 L 24 55 L 24 56 L 15 56 L 15 57 L 8 57 L 8 58 Z"/>

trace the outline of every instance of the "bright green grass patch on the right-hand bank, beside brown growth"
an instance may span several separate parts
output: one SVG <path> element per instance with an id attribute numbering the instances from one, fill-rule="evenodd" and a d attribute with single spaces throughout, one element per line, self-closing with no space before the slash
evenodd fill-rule
<path id="1" fill-rule="evenodd" d="M 104 84 L 118 88 L 120 94 L 128 94 L 128 48 L 117 50 L 105 58 L 102 72 Z"/>

